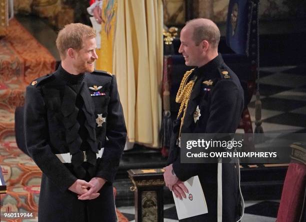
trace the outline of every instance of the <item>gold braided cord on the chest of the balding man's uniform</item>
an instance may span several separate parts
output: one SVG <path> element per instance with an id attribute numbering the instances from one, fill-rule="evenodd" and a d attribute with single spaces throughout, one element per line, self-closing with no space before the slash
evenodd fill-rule
<path id="1" fill-rule="evenodd" d="M 180 103 L 180 107 L 179 107 L 178 114 L 177 114 L 176 118 L 178 118 L 179 115 L 181 114 L 181 112 L 183 111 L 183 116 L 180 119 L 179 136 L 180 136 L 181 127 L 182 127 L 183 122 L 184 122 L 184 117 L 185 117 L 187 105 L 188 105 L 188 102 L 189 102 L 189 99 L 190 99 L 191 91 L 192 91 L 194 81 L 195 81 L 195 80 L 191 80 L 186 84 L 186 82 L 188 80 L 188 77 L 190 76 L 192 71 L 193 71 L 193 69 L 187 71 L 184 74 L 184 77 L 182 78 L 182 80 L 180 82 L 179 89 L 177 91 L 176 98 L 175 98 L 175 102 Z"/>

